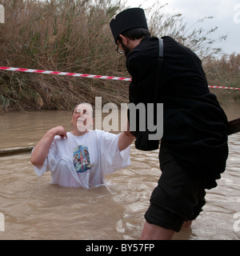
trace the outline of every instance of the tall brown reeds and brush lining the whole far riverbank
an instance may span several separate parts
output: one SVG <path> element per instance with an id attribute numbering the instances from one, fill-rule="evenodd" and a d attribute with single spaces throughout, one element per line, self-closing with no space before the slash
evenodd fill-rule
<path id="1" fill-rule="evenodd" d="M 0 66 L 129 77 L 116 53 L 109 22 L 126 9 L 122 0 L 3 0 Z M 170 35 L 202 59 L 211 86 L 240 86 L 240 54 L 226 55 L 212 36 L 218 27 L 196 29 L 182 14 L 167 14 L 160 2 L 146 10 L 150 31 Z M 220 102 L 239 101 L 236 90 L 212 90 Z M 228 97 L 226 97 L 228 96 Z M 128 82 L 0 71 L 0 112 L 69 110 L 78 102 L 128 102 Z"/>

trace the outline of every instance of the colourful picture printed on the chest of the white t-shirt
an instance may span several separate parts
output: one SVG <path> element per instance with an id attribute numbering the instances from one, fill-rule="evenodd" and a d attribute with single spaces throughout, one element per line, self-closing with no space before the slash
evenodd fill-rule
<path id="1" fill-rule="evenodd" d="M 78 174 L 90 170 L 91 163 L 87 146 L 79 145 L 74 148 L 74 167 Z"/>

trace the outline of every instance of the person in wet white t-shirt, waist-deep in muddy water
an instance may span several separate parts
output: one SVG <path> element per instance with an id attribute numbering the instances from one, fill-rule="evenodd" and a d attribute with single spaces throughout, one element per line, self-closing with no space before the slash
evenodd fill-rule
<path id="1" fill-rule="evenodd" d="M 130 165 L 134 136 L 129 131 L 90 130 L 93 109 L 88 103 L 74 108 L 71 124 L 70 132 L 62 126 L 50 129 L 35 146 L 31 162 L 39 176 L 50 170 L 51 184 L 89 188 L 104 185 L 106 174 Z"/>

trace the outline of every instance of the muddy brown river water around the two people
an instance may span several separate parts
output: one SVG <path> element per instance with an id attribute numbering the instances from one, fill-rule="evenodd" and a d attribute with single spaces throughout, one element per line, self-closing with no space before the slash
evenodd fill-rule
<path id="1" fill-rule="evenodd" d="M 229 120 L 240 117 L 240 104 L 223 108 Z M 34 146 L 51 127 L 71 130 L 70 119 L 70 111 L 1 114 L 0 149 Z M 203 212 L 174 239 L 240 238 L 240 133 L 230 135 L 229 147 L 218 187 L 207 190 Z M 0 239 L 138 239 L 160 175 L 158 150 L 134 144 L 131 165 L 106 176 L 109 186 L 89 190 L 50 185 L 49 173 L 34 173 L 30 153 L 0 157 Z"/>

